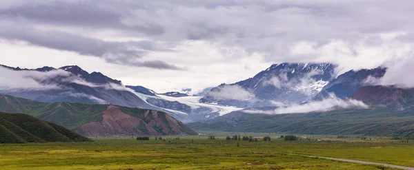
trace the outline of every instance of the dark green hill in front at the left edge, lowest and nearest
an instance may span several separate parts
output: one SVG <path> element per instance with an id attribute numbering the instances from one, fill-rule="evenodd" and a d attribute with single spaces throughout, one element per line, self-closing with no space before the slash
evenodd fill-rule
<path id="1" fill-rule="evenodd" d="M 0 143 L 89 142 L 74 132 L 27 114 L 0 112 Z"/>

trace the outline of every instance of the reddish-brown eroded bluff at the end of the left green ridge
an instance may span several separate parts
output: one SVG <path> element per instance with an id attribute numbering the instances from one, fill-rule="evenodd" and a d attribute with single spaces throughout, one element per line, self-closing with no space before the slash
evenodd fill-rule
<path id="1" fill-rule="evenodd" d="M 103 111 L 102 120 L 90 122 L 73 129 L 83 136 L 146 136 L 188 134 L 186 127 L 168 114 L 159 111 L 146 111 L 135 117 L 124 113 L 115 105 Z M 191 131 L 193 132 L 193 131 Z M 190 133 L 192 134 L 192 133 Z"/>

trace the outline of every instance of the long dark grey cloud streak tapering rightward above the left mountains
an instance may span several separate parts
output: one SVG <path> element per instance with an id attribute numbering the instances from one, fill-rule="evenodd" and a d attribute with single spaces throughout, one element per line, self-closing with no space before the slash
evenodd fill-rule
<path id="1" fill-rule="evenodd" d="M 61 31 L 43 31 L 30 25 L 3 20 L 0 21 L 0 37 L 27 41 L 32 45 L 49 47 L 56 50 L 77 52 L 83 55 L 97 56 L 109 63 L 150 67 L 166 70 L 184 70 L 163 61 L 142 61 L 141 58 L 150 51 L 164 51 L 152 41 L 110 42 L 92 39 Z"/>

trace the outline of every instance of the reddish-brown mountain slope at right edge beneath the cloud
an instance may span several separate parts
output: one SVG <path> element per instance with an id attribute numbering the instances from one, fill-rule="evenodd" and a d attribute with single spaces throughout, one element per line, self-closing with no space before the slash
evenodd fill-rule
<path id="1" fill-rule="evenodd" d="M 414 101 L 414 88 L 404 89 L 396 86 L 366 86 L 351 96 L 371 105 L 406 104 Z"/>

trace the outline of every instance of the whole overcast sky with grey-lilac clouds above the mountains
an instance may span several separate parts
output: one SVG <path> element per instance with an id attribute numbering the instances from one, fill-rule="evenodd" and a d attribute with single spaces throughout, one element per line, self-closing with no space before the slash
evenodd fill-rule
<path id="1" fill-rule="evenodd" d="M 0 64 L 79 65 L 156 92 L 250 78 L 273 63 L 389 67 L 414 87 L 413 1 L 3 0 Z M 398 78 L 406 74 L 406 78 Z"/>

